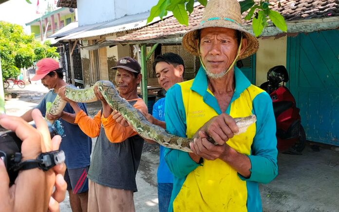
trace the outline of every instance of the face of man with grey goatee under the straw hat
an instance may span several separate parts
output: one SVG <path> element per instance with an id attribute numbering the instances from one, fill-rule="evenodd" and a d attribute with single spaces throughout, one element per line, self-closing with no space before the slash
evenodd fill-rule
<path id="1" fill-rule="evenodd" d="M 237 50 L 235 30 L 221 27 L 201 30 L 200 53 L 209 77 L 223 77 L 232 64 Z"/>

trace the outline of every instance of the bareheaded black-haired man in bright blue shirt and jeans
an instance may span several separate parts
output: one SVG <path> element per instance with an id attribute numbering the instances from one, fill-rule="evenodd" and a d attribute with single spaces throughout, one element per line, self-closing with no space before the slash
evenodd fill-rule
<path id="1" fill-rule="evenodd" d="M 184 81 L 183 75 L 185 64 L 178 54 L 165 53 L 163 55 L 158 55 L 152 64 L 152 68 L 158 78 L 159 85 L 166 91 L 174 84 Z M 166 97 L 161 98 L 154 104 L 152 112 L 153 117 L 147 115 L 148 120 L 152 124 L 157 124 L 163 128 L 166 128 L 165 100 Z M 157 173 L 159 212 L 168 211 L 170 196 L 173 189 L 173 175 L 170 173 L 169 167 L 164 159 L 165 148 L 166 147 L 164 146 L 160 146 L 160 163 Z"/>

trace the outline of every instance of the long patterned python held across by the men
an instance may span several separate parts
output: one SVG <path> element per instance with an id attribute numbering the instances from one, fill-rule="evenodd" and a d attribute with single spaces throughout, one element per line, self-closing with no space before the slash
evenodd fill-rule
<path id="1" fill-rule="evenodd" d="M 160 145 L 168 148 L 192 152 L 189 148 L 189 142 L 192 142 L 193 139 L 182 138 L 169 134 L 164 128 L 148 122 L 145 116 L 138 109 L 135 109 L 124 98 L 120 97 L 112 82 L 98 81 L 94 84 L 94 86 L 98 87 L 98 90 L 104 96 L 109 106 L 119 111 L 121 115 L 130 124 L 132 124 L 133 128 L 139 135 L 146 139 L 156 141 Z M 95 102 L 97 101 L 97 98 L 94 95 L 94 86 L 85 89 L 67 86 L 65 96 L 75 102 Z M 57 95 L 51 108 L 49 109 L 49 113 L 52 115 L 60 114 L 63 108 L 66 106 L 66 103 L 66 101 L 62 100 Z M 249 125 L 256 122 L 256 116 L 250 115 L 243 118 L 235 118 L 235 122 L 239 127 L 239 132 L 237 134 L 240 134 L 245 132 Z M 214 142 L 211 139 L 209 139 L 209 141 Z"/>

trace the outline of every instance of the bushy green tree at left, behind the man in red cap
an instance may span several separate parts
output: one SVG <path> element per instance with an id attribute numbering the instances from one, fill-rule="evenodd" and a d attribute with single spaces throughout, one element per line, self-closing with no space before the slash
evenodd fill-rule
<path id="1" fill-rule="evenodd" d="M 26 35 L 22 26 L 0 21 L 0 57 L 2 78 L 17 77 L 21 68 L 31 67 L 44 57 L 57 58 L 56 47 L 40 43 L 34 34 Z"/>

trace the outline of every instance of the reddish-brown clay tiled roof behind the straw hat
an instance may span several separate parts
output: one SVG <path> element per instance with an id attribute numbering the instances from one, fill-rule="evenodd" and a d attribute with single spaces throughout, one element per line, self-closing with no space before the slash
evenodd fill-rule
<path id="1" fill-rule="evenodd" d="M 339 0 L 280 0 L 281 7 L 278 8 L 279 0 L 270 0 L 272 9 L 279 11 L 286 21 L 325 18 L 339 16 Z M 174 17 L 169 17 L 136 30 L 130 34 L 117 37 L 117 41 L 141 41 L 158 39 L 159 37 L 178 37 L 184 35 L 192 27 L 199 24 L 204 6 L 198 5 L 188 18 L 188 26 L 178 23 Z M 245 18 L 247 12 L 243 14 Z M 249 25 L 251 21 L 246 21 L 243 25 Z"/>

